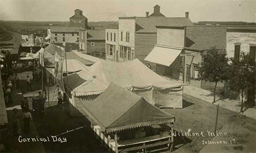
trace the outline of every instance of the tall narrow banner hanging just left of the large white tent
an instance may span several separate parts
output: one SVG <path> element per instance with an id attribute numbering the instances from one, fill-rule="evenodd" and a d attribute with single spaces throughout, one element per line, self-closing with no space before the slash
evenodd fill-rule
<path id="1" fill-rule="evenodd" d="M 57 85 L 60 86 L 60 89 L 65 92 L 64 85 L 63 85 L 63 57 L 55 54 L 55 80 Z"/>

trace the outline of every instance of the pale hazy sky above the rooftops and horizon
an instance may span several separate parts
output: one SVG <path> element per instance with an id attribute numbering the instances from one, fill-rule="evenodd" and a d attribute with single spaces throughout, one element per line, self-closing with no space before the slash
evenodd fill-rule
<path id="1" fill-rule="evenodd" d="M 166 17 L 192 22 L 256 22 L 256 0 L 0 0 L 0 20 L 69 21 L 82 9 L 88 21 L 117 21 L 122 16 L 145 16 L 158 4 Z"/>

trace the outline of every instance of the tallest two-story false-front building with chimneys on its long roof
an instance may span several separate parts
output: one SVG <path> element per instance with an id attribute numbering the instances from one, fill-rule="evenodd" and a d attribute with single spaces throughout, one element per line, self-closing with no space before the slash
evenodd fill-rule
<path id="1" fill-rule="evenodd" d="M 155 8 L 153 14 L 159 14 L 160 7 L 157 5 Z M 148 14 L 147 12 L 146 17 L 119 17 L 118 36 L 116 36 L 119 47 L 113 54 L 118 60 L 115 61 L 125 62 L 138 58 L 147 64 L 148 62 L 144 61 L 144 58 L 156 44 L 155 26 L 193 26 L 188 13 L 185 14 L 185 17 L 149 16 Z M 112 56 L 108 56 L 109 60 L 113 60 Z M 152 64 L 152 67 L 155 67 L 155 64 Z"/>

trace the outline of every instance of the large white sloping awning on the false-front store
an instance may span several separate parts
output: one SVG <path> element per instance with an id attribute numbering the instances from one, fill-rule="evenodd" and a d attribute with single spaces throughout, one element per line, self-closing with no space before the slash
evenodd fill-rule
<path id="1" fill-rule="evenodd" d="M 181 51 L 181 48 L 169 48 L 167 46 L 155 45 L 154 49 L 144 60 L 170 66 L 178 55 L 181 54 Z"/>

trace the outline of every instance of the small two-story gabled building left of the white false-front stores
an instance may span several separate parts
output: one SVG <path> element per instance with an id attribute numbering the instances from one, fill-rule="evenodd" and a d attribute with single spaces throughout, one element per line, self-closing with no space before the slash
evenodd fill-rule
<path id="1" fill-rule="evenodd" d="M 105 31 L 79 29 L 79 50 L 88 55 L 105 58 Z"/>

